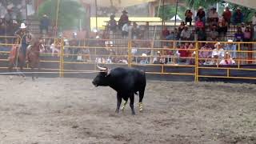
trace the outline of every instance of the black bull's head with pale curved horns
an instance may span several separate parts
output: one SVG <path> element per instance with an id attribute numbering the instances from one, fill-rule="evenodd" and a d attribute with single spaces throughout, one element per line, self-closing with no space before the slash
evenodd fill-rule
<path id="1" fill-rule="evenodd" d="M 110 75 L 110 70 L 106 67 L 101 67 L 98 65 L 97 67 L 100 70 L 100 72 L 93 80 L 94 86 L 108 86 L 109 84 L 108 76 Z"/>

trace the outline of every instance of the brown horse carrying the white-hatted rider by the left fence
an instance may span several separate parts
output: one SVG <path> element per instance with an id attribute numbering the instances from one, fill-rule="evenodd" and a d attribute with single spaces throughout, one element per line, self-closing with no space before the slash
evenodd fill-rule
<path id="1" fill-rule="evenodd" d="M 13 46 L 12 50 L 10 50 L 9 56 L 9 72 L 13 71 L 14 66 L 19 67 L 20 71 L 18 74 L 21 75 L 23 78 L 26 78 L 25 74 L 22 73 L 23 67 L 27 64 L 32 70 L 32 79 L 34 80 L 34 69 L 38 68 L 40 70 L 40 49 L 42 48 L 42 43 L 40 41 L 35 41 L 33 45 L 27 47 L 26 56 L 22 54 L 21 46 L 15 45 Z M 38 75 L 37 75 L 38 78 Z"/>

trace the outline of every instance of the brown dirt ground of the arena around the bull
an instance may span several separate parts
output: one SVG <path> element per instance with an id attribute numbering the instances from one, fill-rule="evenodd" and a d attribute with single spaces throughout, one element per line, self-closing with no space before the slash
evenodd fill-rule
<path id="1" fill-rule="evenodd" d="M 0 144 L 256 143 L 256 86 L 148 81 L 144 111 L 115 114 L 91 79 L 0 76 Z"/>

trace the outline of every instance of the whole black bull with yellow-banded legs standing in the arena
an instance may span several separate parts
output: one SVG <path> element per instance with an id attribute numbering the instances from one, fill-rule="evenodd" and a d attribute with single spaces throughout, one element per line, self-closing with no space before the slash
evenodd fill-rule
<path id="1" fill-rule="evenodd" d="M 134 94 L 139 94 L 139 111 L 142 111 L 142 99 L 146 87 L 146 75 L 144 72 L 122 67 L 113 70 L 100 66 L 98 68 L 101 72 L 94 78 L 93 84 L 94 86 L 110 86 L 117 91 L 116 113 L 119 112 L 122 99 L 125 101 L 122 107 L 122 110 L 124 110 L 128 98 L 130 98 L 130 108 L 132 114 L 135 114 Z"/>

